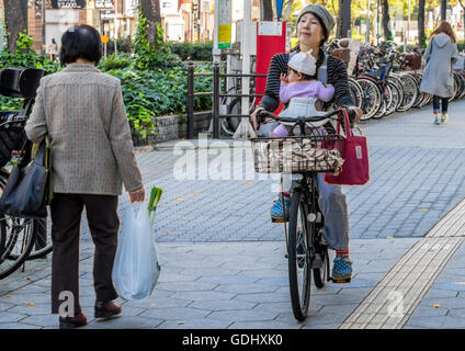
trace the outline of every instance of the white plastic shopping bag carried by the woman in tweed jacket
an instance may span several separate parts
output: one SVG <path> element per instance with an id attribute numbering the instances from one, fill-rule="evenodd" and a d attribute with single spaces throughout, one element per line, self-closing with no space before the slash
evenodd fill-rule
<path id="1" fill-rule="evenodd" d="M 141 299 L 151 294 L 159 275 L 160 264 L 147 204 L 129 204 L 113 264 L 113 284 L 124 299 Z"/>

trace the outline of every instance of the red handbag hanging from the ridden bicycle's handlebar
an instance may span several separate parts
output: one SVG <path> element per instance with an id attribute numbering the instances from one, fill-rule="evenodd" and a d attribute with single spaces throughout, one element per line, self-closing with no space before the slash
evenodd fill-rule
<path id="1" fill-rule="evenodd" d="M 353 135 L 350 128 L 350 120 L 347 111 L 343 112 L 345 140 L 342 149 L 344 163 L 338 176 L 324 174 L 325 183 L 329 185 L 364 185 L 370 181 L 368 148 L 365 136 Z M 341 122 L 338 121 L 337 134 L 339 134 Z"/>

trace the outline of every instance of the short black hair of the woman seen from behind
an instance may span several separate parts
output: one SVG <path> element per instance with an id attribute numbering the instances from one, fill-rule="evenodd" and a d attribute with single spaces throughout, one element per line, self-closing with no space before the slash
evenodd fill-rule
<path id="1" fill-rule="evenodd" d="M 78 58 L 99 64 L 102 58 L 102 39 L 90 25 L 81 24 L 67 30 L 61 36 L 59 60 L 61 65 L 72 64 Z"/>

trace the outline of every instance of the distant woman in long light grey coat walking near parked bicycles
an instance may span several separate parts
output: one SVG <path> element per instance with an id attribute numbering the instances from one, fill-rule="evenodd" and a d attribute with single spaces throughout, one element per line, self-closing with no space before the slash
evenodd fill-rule
<path id="1" fill-rule="evenodd" d="M 442 21 L 432 33 L 430 45 L 424 52 L 424 59 L 427 67 L 420 90 L 433 95 L 434 124 L 446 123 L 449 99 L 454 94 L 452 66 L 458 59 L 455 34 L 446 21 Z"/>

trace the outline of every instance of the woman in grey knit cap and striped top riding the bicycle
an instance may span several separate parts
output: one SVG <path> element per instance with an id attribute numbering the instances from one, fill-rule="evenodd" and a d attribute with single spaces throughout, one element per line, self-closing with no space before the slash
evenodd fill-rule
<path id="1" fill-rule="evenodd" d="M 352 99 L 349 93 L 348 73 L 344 64 L 329 56 L 324 52 L 322 45 L 328 39 L 329 34 L 334 27 L 334 19 L 329 11 L 319 4 L 309 4 L 305 7 L 297 19 L 297 36 L 298 45 L 291 54 L 276 54 L 270 63 L 266 77 L 266 88 L 263 99 L 260 101 L 257 110 L 251 114 L 254 129 L 259 128 L 258 113 L 261 110 L 273 112 L 280 103 L 280 77 L 287 72 L 287 63 L 290 58 L 302 52 L 306 53 L 311 49 L 311 55 L 316 59 L 317 79 L 324 83 L 334 87 L 332 100 L 325 104 L 338 106 L 348 106 L 354 112 L 356 122 L 362 116 L 362 110 L 353 106 Z M 273 124 L 270 120 L 265 120 L 260 131 L 266 133 L 270 129 L 266 123 Z M 352 261 L 349 259 L 349 212 L 345 195 L 341 191 L 340 185 L 327 185 L 322 181 L 322 176 L 318 177 L 319 188 L 319 205 L 325 215 L 324 236 L 331 249 L 336 250 L 336 259 L 332 267 L 332 278 L 340 281 L 350 281 L 352 278 Z M 285 213 L 290 213 L 290 193 L 284 193 Z M 284 218 L 283 204 L 281 193 L 271 208 L 271 217 L 274 219 Z"/>

